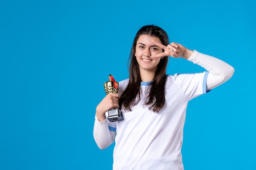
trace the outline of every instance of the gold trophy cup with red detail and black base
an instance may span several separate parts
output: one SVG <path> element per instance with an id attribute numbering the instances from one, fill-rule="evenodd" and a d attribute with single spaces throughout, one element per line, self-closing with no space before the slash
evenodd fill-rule
<path id="1" fill-rule="evenodd" d="M 111 74 L 108 76 L 108 79 L 109 81 L 103 84 L 106 94 L 117 93 L 119 83 L 115 81 Z M 124 120 L 121 110 L 119 108 L 108 110 L 108 120 L 111 122 Z"/>

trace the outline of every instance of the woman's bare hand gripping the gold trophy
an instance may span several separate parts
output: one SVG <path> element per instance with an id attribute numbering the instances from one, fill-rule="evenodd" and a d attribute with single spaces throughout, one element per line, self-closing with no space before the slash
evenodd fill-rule
<path id="1" fill-rule="evenodd" d="M 106 119 L 105 113 L 112 108 L 119 108 L 119 95 L 117 93 L 110 93 L 104 97 L 96 108 L 96 116 L 99 121 Z"/>

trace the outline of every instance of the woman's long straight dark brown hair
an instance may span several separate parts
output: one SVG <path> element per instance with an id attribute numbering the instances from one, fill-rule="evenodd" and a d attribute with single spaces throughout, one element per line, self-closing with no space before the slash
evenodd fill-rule
<path id="1" fill-rule="evenodd" d="M 124 110 L 130 110 L 141 100 L 141 77 L 139 73 L 139 64 L 135 57 L 135 49 L 137 40 L 140 35 L 149 35 L 158 37 L 161 43 L 165 46 L 169 44 L 168 35 L 159 26 L 146 25 L 141 27 L 133 40 L 132 49 L 129 56 L 129 82 L 125 91 L 122 93 L 119 99 L 119 106 Z M 163 50 L 164 51 L 164 50 Z M 150 84 L 148 84 L 149 93 L 145 100 L 145 105 L 148 105 L 150 110 L 159 112 L 159 110 L 165 104 L 165 83 L 166 83 L 166 68 L 168 63 L 168 57 L 164 57 L 160 60 L 155 77 Z"/>

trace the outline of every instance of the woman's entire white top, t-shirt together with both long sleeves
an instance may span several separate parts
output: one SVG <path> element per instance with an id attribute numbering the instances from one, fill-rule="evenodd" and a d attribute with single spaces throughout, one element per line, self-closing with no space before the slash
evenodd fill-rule
<path id="1" fill-rule="evenodd" d="M 189 100 L 226 82 L 234 73 L 229 64 L 194 51 L 187 59 L 207 71 L 195 74 L 168 75 L 165 105 L 154 113 L 142 100 L 123 111 L 123 121 L 99 121 L 95 115 L 94 140 L 99 148 L 115 140 L 113 170 L 183 170 L 181 147 L 186 107 Z M 208 72 L 209 71 L 209 72 Z M 142 95 L 149 82 L 142 82 Z M 119 96 L 128 79 L 119 82 Z"/>

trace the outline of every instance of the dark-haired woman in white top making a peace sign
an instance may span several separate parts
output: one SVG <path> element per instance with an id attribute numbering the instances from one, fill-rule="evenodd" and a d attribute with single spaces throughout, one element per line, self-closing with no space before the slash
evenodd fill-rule
<path id="1" fill-rule="evenodd" d="M 166 75 L 168 56 L 184 58 L 203 73 Z M 188 102 L 226 82 L 229 64 L 181 44 L 169 44 L 167 33 L 146 25 L 130 52 L 129 79 L 118 94 L 108 94 L 96 108 L 94 139 L 104 149 L 115 141 L 113 170 L 183 170 L 181 147 Z M 121 109 L 124 120 L 110 122 L 105 113 Z"/>

